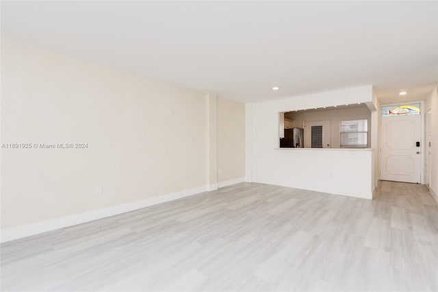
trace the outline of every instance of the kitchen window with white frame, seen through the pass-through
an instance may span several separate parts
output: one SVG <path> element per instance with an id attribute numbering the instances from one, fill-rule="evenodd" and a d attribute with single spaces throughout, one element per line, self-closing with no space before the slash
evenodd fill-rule
<path id="1" fill-rule="evenodd" d="M 341 147 L 368 147 L 368 119 L 341 121 Z"/>

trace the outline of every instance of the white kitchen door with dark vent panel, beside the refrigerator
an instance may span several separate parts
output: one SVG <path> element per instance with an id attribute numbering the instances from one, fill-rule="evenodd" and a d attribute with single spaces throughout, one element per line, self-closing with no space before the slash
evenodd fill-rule
<path id="1" fill-rule="evenodd" d="M 330 148 L 331 121 L 305 121 L 304 147 Z"/>

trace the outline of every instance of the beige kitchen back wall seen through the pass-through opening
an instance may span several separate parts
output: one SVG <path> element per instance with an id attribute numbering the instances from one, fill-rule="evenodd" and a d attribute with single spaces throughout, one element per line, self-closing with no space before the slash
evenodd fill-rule
<path id="1" fill-rule="evenodd" d="M 293 127 L 304 127 L 305 121 L 331 121 L 331 148 L 341 147 L 340 123 L 354 119 L 368 119 L 368 146 L 371 137 L 371 112 L 366 106 L 357 108 L 341 108 L 337 110 L 319 110 L 315 112 L 298 112 L 285 114 L 287 119 L 292 119 Z"/>

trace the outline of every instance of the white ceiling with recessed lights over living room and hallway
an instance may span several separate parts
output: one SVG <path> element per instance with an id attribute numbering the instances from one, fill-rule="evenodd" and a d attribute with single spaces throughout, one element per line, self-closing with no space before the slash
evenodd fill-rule
<path id="1" fill-rule="evenodd" d="M 438 83 L 437 1 L 1 1 L 1 36 L 244 102 Z"/>

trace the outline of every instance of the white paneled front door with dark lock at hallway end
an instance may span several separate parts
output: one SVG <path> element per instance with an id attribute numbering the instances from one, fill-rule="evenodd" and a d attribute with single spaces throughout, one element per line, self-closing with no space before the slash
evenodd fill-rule
<path id="1" fill-rule="evenodd" d="M 381 127 L 381 179 L 420 184 L 421 115 L 382 117 Z"/>

